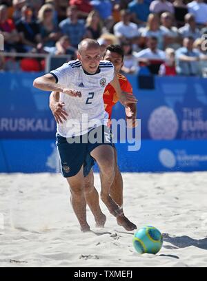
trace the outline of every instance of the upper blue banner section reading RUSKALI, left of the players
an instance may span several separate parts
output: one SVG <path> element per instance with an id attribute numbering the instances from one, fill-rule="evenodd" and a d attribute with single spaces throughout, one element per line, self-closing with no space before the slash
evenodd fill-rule
<path id="1" fill-rule="evenodd" d="M 1 73 L 0 138 L 53 138 L 49 92 L 35 89 L 31 73 Z"/>

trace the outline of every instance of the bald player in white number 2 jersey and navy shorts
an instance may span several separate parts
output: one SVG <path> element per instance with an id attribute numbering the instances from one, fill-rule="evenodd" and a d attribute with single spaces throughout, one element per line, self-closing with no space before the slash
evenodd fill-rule
<path id="1" fill-rule="evenodd" d="M 104 88 L 111 83 L 124 105 L 137 103 L 137 100 L 134 96 L 121 92 L 112 63 L 101 61 L 97 41 L 81 41 L 77 58 L 77 61 L 65 63 L 50 74 L 34 79 L 33 85 L 41 90 L 60 92 L 60 101 L 64 101 L 66 112 L 73 118 L 69 115 L 67 122 L 57 124 L 57 147 L 63 176 L 70 185 L 72 207 L 81 231 L 90 230 L 86 220 L 83 180 L 83 163 L 89 154 L 99 165 L 101 200 L 113 216 L 120 217 L 120 223 L 124 226 L 129 220 L 109 194 L 115 178 L 115 155 L 110 132 L 105 125 L 108 114 L 103 105 Z M 87 124 L 83 121 L 83 114 L 88 114 Z M 79 122 L 79 126 L 74 127 L 74 119 Z M 100 136 L 100 133 L 101 142 L 90 141 L 91 136 Z"/>

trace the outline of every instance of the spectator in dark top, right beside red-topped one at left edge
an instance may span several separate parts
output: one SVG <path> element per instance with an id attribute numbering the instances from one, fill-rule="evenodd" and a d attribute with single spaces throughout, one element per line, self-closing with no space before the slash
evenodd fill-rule
<path id="1" fill-rule="evenodd" d="M 21 19 L 17 22 L 17 30 L 24 52 L 29 52 L 36 48 L 37 43 L 41 41 L 39 25 L 32 21 L 32 14 L 33 12 L 29 5 L 23 6 L 21 9 Z"/>

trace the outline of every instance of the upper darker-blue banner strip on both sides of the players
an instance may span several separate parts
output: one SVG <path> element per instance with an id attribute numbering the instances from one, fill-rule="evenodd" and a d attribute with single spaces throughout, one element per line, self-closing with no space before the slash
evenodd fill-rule
<path id="1" fill-rule="evenodd" d="M 50 93 L 32 86 L 39 75 L 0 73 L 0 138 L 54 138 Z M 131 75 L 128 79 L 138 98 L 141 138 L 207 139 L 207 79 Z M 124 118 L 120 103 L 112 117 Z"/>

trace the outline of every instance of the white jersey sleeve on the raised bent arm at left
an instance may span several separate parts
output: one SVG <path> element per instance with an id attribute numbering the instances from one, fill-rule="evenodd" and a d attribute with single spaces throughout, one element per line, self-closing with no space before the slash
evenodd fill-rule
<path id="1" fill-rule="evenodd" d="M 50 71 L 50 74 L 52 74 L 55 79 L 56 83 L 59 83 L 60 85 L 66 86 L 72 79 L 74 79 L 74 72 L 72 70 L 72 67 L 68 63 L 64 63 L 61 67 L 58 67 L 56 70 Z"/>

